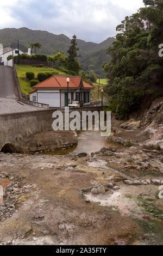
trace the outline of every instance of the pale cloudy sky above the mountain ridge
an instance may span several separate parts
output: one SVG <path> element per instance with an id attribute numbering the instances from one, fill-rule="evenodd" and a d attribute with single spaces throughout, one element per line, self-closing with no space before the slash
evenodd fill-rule
<path id="1" fill-rule="evenodd" d="M 140 7 L 142 0 L 7 0 L 0 2 L 0 28 L 28 27 L 101 42 Z"/>

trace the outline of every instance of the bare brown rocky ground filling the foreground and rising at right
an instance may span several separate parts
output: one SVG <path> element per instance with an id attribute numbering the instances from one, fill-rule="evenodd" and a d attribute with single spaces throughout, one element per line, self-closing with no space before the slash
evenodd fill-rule
<path id="1" fill-rule="evenodd" d="M 126 139 L 126 147 L 90 155 L 1 153 L 0 243 L 162 245 L 161 102 L 146 118 L 113 121 L 111 136 Z"/>

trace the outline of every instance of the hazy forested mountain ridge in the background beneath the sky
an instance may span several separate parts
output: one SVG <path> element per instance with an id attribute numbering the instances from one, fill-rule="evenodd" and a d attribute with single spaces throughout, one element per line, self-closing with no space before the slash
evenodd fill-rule
<path id="1" fill-rule="evenodd" d="M 0 29 L 0 43 L 4 46 L 13 45 L 17 47 L 17 40 L 19 40 L 20 49 L 26 52 L 30 43 L 40 42 L 42 47 L 37 48 L 36 53 L 47 55 L 54 55 L 59 51 L 68 56 L 67 50 L 71 44 L 71 39 L 64 34 L 55 35 L 47 31 L 36 31 L 28 28 Z M 110 60 L 110 54 L 106 56 L 105 51 L 114 41 L 114 38 L 108 38 L 100 44 L 96 44 L 95 42 L 85 42 L 77 39 L 80 55 L 78 60 L 82 64 L 82 70 L 86 73 L 94 70 L 97 75 L 104 78 L 105 72 L 102 69 L 102 64 Z"/>

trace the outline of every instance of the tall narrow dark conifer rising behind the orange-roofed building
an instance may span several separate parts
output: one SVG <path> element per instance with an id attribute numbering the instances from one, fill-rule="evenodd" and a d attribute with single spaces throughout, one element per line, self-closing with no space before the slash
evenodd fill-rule
<path id="1" fill-rule="evenodd" d="M 78 62 L 77 58 L 79 48 L 77 47 L 77 37 L 74 35 L 71 40 L 70 48 L 68 49 L 68 59 L 67 59 L 67 69 L 72 70 L 76 72 L 76 74 L 79 74 L 79 71 L 81 69 L 80 63 Z"/>

